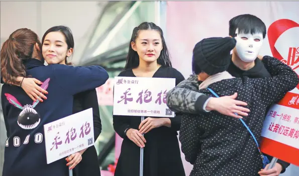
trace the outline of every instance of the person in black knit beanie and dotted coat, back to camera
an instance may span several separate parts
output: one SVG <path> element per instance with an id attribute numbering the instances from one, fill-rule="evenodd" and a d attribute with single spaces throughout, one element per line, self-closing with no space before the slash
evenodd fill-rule
<path id="1" fill-rule="evenodd" d="M 236 43 L 235 38 L 212 37 L 198 42 L 193 49 L 192 71 L 197 77 L 184 86 L 197 84 L 198 92 L 211 97 L 237 92 L 250 112 L 242 119 L 216 111 L 182 115 L 179 140 L 186 160 L 193 164 L 191 176 L 259 175 L 269 163 L 257 142 L 265 111 L 299 82 L 289 66 L 270 56 L 262 59 L 270 77 L 232 76 L 226 70 Z"/>

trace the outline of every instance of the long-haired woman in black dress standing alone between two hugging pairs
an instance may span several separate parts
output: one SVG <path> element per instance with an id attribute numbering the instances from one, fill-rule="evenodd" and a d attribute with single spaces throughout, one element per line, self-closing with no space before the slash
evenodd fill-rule
<path id="1" fill-rule="evenodd" d="M 175 78 L 184 80 L 171 67 L 161 28 L 144 22 L 133 30 L 125 71 L 121 77 Z M 140 147 L 144 147 L 144 176 L 184 176 L 177 131 L 180 115 L 173 118 L 113 116 L 115 131 L 124 138 L 115 176 L 139 175 Z M 142 135 L 144 134 L 144 136 Z"/>

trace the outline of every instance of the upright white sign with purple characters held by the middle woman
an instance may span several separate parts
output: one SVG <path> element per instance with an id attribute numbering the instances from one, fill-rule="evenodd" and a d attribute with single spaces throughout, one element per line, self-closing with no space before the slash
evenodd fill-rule
<path id="1" fill-rule="evenodd" d="M 174 117 L 166 93 L 175 78 L 115 77 L 113 115 Z"/>

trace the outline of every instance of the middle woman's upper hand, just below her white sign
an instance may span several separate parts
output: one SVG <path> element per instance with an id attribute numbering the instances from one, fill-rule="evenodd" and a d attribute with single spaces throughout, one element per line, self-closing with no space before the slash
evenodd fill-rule
<path id="1" fill-rule="evenodd" d="M 168 121 L 167 121 L 167 119 L 168 119 Z M 147 133 L 150 130 L 152 130 L 153 128 L 158 128 L 160 126 L 165 125 L 167 122 L 170 123 L 169 118 L 152 118 L 152 117 L 148 117 L 140 123 L 139 132 L 141 134 Z"/>

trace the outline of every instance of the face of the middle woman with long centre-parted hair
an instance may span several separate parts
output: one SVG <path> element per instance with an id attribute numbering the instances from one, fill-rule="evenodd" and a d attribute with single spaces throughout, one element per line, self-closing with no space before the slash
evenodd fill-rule
<path id="1" fill-rule="evenodd" d="M 145 62 L 157 61 L 163 49 L 161 35 L 155 30 L 139 31 L 131 46 L 138 53 L 139 59 Z"/>

